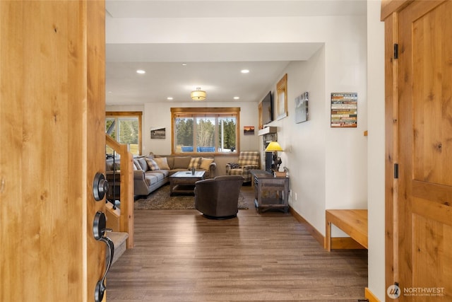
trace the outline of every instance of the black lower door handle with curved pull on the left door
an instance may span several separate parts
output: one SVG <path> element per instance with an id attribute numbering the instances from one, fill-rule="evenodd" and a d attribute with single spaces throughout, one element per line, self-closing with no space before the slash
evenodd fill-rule
<path id="1" fill-rule="evenodd" d="M 107 267 L 105 267 L 105 273 L 102 276 L 102 279 L 97 281 L 96 289 L 95 289 L 95 302 L 101 302 L 104 298 L 105 290 L 107 289 L 107 286 L 105 286 L 105 277 L 107 277 L 107 272 L 109 271 L 110 267 L 112 266 L 113 262 L 113 255 L 114 255 L 114 243 L 113 241 L 105 236 L 106 232 L 111 232 L 111 228 L 107 228 L 107 219 L 105 218 L 105 214 L 102 211 L 97 211 L 97 213 L 94 216 L 94 222 L 93 222 L 93 236 L 95 240 L 102 241 L 107 245 L 108 250 L 108 262 Z"/>

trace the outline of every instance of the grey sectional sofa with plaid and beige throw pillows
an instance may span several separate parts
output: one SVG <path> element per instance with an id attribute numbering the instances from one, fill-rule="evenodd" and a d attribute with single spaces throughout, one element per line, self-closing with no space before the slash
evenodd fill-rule
<path id="1" fill-rule="evenodd" d="M 108 158 L 106 161 L 107 180 L 112 187 L 112 176 L 114 173 L 113 162 L 116 168 L 119 168 L 119 159 Z M 154 155 L 136 156 L 133 158 L 133 194 L 148 195 L 157 190 L 162 185 L 169 182 L 169 176 L 179 172 L 191 170 L 203 170 L 206 172 L 204 178 L 213 178 L 215 168 L 217 167 L 213 157 L 201 156 L 174 156 L 174 155 Z M 116 178 L 116 184 L 119 183 L 119 177 Z M 118 187 L 116 185 L 115 187 Z M 119 197 L 117 193 L 116 196 Z"/>

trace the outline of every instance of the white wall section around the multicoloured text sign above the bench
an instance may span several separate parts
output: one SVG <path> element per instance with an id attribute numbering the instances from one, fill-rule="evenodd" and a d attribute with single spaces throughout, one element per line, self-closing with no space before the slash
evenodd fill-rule
<path id="1" fill-rule="evenodd" d="M 335 33 L 326 45 L 325 113 L 331 93 L 358 93 L 357 128 L 326 127 L 326 209 L 367 209 L 367 32 L 366 18 Z M 335 233 L 333 231 L 333 236 Z"/>

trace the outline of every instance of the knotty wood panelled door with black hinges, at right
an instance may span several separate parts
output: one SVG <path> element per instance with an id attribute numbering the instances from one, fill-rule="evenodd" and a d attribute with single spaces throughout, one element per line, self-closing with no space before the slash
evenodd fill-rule
<path id="1" fill-rule="evenodd" d="M 400 301 L 452 299 L 452 1 L 398 15 Z"/>

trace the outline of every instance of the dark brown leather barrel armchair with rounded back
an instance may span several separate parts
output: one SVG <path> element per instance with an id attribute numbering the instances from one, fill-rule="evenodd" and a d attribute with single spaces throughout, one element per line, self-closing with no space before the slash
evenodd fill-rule
<path id="1" fill-rule="evenodd" d="M 243 181 L 241 175 L 224 175 L 197 181 L 195 209 L 209 219 L 230 219 L 237 216 Z"/>

